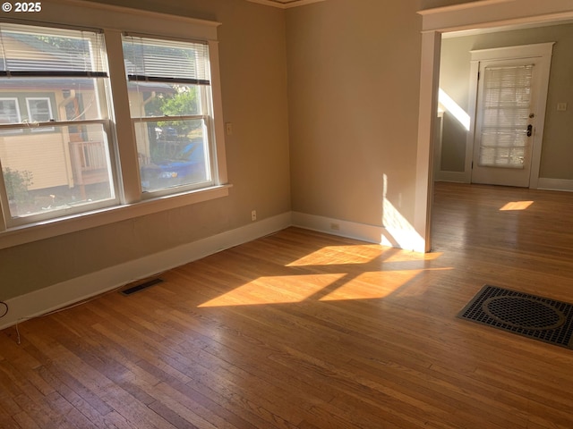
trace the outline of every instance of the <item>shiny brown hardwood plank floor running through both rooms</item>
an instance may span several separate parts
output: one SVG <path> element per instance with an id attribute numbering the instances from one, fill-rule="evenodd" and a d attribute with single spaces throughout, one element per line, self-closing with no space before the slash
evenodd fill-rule
<path id="1" fill-rule="evenodd" d="M 434 208 L 427 255 L 290 228 L 4 330 L 0 427 L 573 427 L 573 350 L 456 318 L 484 283 L 573 302 L 573 195 Z"/>

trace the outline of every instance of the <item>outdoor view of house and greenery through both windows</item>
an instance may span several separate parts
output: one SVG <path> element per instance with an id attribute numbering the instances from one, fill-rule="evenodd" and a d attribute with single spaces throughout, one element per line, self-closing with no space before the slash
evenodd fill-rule
<path id="1" fill-rule="evenodd" d="M 15 63 L 31 74 L 31 78 L 8 74 L 0 90 L 0 123 L 15 124 L 0 132 L 11 213 L 35 214 L 52 206 L 114 198 L 107 143 L 109 106 L 101 93 L 106 90 L 102 80 L 107 75 L 88 72 L 81 76 L 76 71 L 78 59 L 86 63 L 86 69 L 98 63 L 91 42 L 17 30 L 4 31 L 3 37 L 4 46 L 16 53 L 12 66 Z M 135 61 L 125 60 L 126 71 L 138 76 L 142 66 Z M 130 83 L 128 88 L 132 115 L 141 118 L 161 116 L 162 103 L 188 89 L 147 81 Z M 187 96 L 192 91 L 187 90 Z M 195 92 L 192 103 L 197 104 Z M 205 180 L 208 169 L 201 121 L 141 121 L 135 123 L 134 131 L 143 191 Z"/>

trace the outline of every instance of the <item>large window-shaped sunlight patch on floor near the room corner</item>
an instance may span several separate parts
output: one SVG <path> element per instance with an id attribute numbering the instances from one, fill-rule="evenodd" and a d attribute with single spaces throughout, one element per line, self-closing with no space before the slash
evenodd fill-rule
<path id="1" fill-rule="evenodd" d="M 441 255 L 379 244 L 325 246 L 284 265 L 278 275 L 246 282 L 199 307 L 384 299 L 418 275 L 451 269 L 430 266 Z M 285 274 L 285 267 L 292 275 Z"/>

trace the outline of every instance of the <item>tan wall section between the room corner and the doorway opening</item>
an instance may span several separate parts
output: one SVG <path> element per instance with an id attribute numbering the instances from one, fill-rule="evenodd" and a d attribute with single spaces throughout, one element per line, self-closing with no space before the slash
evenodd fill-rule
<path id="1" fill-rule="evenodd" d="M 293 210 L 413 223 L 419 2 L 328 0 L 287 13 Z"/>

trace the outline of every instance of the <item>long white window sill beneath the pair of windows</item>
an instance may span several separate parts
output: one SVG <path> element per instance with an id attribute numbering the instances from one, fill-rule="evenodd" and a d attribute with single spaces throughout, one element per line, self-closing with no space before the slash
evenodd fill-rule
<path id="1" fill-rule="evenodd" d="M 32 241 L 49 239 L 74 231 L 87 230 L 108 223 L 189 206 L 215 198 L 227 197 L 232 185 L 219 185 L 167 197 L 152 198 L 135 204 L 107 207 L 48 221 L 30 223 L 0 232 L 0 248 L 11 248 Z"/>

